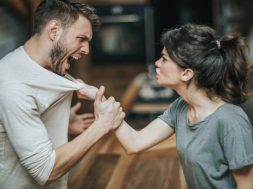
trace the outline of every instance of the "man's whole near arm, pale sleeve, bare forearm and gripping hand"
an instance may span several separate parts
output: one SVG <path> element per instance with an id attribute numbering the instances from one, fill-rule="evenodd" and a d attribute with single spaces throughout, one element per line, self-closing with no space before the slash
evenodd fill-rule
<path id="1" fill-rule="evenodd" d="M 94 127 L 90 127 L 87 133 L 81 134 L 71 143 L 53 149 L 35 98 L 26 95 L 26 88 L 20 84 L 2 85 L 2 89 L 4 93 L 0 93 L 0 119 L 8 140 L 20 164 L 40 185 L 50 183 L 67 173 L 92 144 L 114 128 L 115 124 L 120 125 L 124 118 L 119 103 L 112 99 L 101 102 L 98 94 L 94 106 L 99 111 L 96 111 L 98 117 L 93 123 Z M 102 94 L 103 90 L 100 91 Z"/>

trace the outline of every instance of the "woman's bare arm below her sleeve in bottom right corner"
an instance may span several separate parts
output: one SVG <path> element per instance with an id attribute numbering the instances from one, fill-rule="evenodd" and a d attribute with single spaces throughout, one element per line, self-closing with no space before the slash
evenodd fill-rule
<path id="1" fill-rule="evenodd" d="M 232 173 L 237 189 L 253 189 L 253 165 L 234 170 Z"/>

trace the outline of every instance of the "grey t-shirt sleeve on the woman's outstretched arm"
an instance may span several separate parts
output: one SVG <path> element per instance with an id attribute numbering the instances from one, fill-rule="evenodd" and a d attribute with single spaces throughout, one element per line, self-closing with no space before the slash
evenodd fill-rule
<path id="1" fill-rule="evenodd" d="M 180 104 L 182 104 L 182 98 L 177 98 L 169 105 L 168 109 L 165 110 L 163 114 L 158 116 L 158 118 L 162 119 L 173 129 L 176 129 L 177 112 L 179 111 Z"/>

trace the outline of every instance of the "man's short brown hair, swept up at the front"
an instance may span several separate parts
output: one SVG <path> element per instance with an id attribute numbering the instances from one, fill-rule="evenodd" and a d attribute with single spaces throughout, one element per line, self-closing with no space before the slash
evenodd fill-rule
<path id="1" fill-rule="evenodd" d="M 59 20 L 62 27 L 67 27 L 75 23 L 80 15 L 90 21 L 94 30 L 99 28 L 96 9 L 79 0 L 42 0 L 34 14 L 33 34 L 40 34 L 50 20 Z"/>

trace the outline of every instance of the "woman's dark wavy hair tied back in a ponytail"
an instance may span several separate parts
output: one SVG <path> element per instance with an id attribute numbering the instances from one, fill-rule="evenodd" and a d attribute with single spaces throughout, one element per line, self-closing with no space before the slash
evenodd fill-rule
<path id="1" fill-rule="evenodd" d="M 186 24 L 165 32 L 162 43 L 178 66 L 194 71 L 196 86 L 206 89 L 210 99 L 246 101 L 250 67 L 247 46 L 238 33 L 218 37 L 208 26 Z"/>

